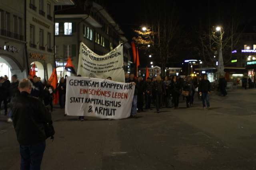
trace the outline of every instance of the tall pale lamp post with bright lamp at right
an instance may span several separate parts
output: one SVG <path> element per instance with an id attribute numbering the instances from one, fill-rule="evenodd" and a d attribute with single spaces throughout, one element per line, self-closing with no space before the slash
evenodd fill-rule
<path id="1" fill-rule="evenodd" d="M 216 27 L 216 31 L 220 31 L 220 44 L 219 44 L 219 58 L 218 58 L 218 72 L 217 72 L 217 79 L 220 78 L 220 76 L 224 76 L 224 62 L 223 62 L 223 56 L 222 56 L 222 38 L 223 38 L 223 28 L 222 27 Z"/>

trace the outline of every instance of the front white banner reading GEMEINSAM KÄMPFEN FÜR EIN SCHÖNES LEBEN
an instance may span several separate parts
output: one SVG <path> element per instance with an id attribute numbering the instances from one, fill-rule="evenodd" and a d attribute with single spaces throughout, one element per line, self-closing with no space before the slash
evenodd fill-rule
<path id="1" fill-rule="evenodd" d="M 67 77 L 65 113 L 101 119 L 130 116 L 135 86 L 88 77 Z"/>

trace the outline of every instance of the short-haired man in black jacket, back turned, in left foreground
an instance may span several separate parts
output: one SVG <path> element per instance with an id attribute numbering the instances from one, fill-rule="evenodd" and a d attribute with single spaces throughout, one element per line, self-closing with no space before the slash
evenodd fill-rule
<path id="1" fill-rule="evenodd" d="M 20 144 L 21 170 L 40 170 L 46 134 L 44 125 L 52 123 L 51 115 L 42 102 L 30 95 L 32 84 L 23 79 L 19 86 L 20 95 L 11 101 L 14 129 Z"/>

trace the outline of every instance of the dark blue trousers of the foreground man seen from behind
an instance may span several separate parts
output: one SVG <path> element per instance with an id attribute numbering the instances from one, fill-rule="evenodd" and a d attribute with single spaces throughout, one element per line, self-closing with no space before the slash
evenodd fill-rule
<path id="1" fill-rule="evenodd" d="M 29 146 L 20 145 L 20 170 L 40 170 L 45 141 Z"/>

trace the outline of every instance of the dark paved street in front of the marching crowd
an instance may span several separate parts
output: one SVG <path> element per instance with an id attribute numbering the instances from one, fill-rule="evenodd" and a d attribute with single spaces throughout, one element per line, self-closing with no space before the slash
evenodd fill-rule
<path id="1" fill-rule="evenodd" d="M 211 94 L 210 110 L 195 99 L 189 109 L 139 113 L 117 121 L 64 117 L 55 109 L 56 135 L 47 140 L 42 170 L 256 169 L 256 90 Z M 0 116 L 0 170 L 17 170 L 12 124 Z"/>

